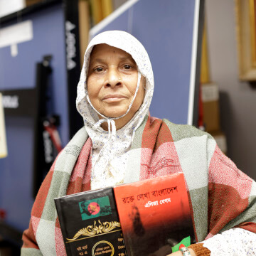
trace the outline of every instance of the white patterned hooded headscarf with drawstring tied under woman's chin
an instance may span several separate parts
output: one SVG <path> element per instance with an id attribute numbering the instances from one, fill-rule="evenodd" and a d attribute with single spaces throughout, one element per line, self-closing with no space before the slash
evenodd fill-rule
<path id="1" fill-rule="evenodd" d="M 97 113 L 97 110 L 90 103 L 87 93 L 86 80 L 88 66 L 90 64 L 90 53 L 94 46 L 102 43 L 119 48 L 132 55 L 138 68 L 137 90 L 139 89 L 141 75 L 146 78 L 144 101 L 141 107 L 134 114 L 134 117 L 124 127 L 117 130 L 117 132 L 113 120 L 120 117 L 110 118 L 101 114 L 104 119 L 99 119 L 99 113 Z M 137 95 L 137 90 L 134 98 Z M 92 189 L 113 186 L 123 182 L 125 166 L 127 165 L 134 132 L 149 112 L 153 92 L 154 75 L 149 55 L 146 53 L 142 43 L 124 31 L 106 31 L 92 38 L 85 51 L 76 100 L 78 112 L 82 115 L 85 122 L 85 129 L 92 139 Z M 132 106 L 134 98 L 130 102 L 129 109 Z M 127 112 L 129 112 L 129 109 Z M 108 123 L 109 131 L 105 131 L 100 127 L 102 122 Z"/>

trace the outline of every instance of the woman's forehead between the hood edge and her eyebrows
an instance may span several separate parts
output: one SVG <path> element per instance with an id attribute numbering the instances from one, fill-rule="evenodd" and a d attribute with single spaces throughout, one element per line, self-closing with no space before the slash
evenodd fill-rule
<path id="1" fill-rule="evenodd" d="M 114 56 L 119 56 L 119 58 L 127 58 L 135 63 L 134 59 L 132 58 L 132 55 L 130 55 L 122 49 L 109 46 L 105 43 L 98 44 L 92 48 L 90 60 L 93 60 L 95 58 L 108 58 Z"/>

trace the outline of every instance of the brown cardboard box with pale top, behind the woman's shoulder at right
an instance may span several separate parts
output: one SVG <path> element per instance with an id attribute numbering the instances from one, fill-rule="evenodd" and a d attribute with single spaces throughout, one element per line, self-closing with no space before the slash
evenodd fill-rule
<path id="1" fill-rule="evenodd" d="M 202 84 L 203 123 L 206 132 L 220 130 L 220 108 L 218 85 L 215 83 Z"/>

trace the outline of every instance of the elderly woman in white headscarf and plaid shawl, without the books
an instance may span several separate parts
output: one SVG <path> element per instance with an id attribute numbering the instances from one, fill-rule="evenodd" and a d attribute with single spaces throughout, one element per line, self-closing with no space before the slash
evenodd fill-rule
<path id="1" fill-rule="evenodd" d="M 21 255 L 65 255 L 53 198 L 176 172 L 186 178 L 198 243 L 171 255 L 255 255 L 255 181 L 209 134 L 150 117 L 153 90 L 149 56 L 136 38 L 107 31 L 92 39 L 78 84 L 85 127 L 43 181 Z"/>

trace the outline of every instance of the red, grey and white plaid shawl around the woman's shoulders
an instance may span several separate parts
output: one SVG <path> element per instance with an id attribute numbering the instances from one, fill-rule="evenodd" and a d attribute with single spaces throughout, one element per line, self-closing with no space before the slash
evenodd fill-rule
<path id="1" fill-rule="evenodd" d="M 59 154 L 38 192 L 21 255 L 66 255 L 53 198 L 90 189 L 92 142 L 80 129 Z M 256 233 L 256 183 L 213 137 L 195 127 L 146 117 L 137 129 L 124 182 L 183 172 L 196 240 L 233 227 Z"/>

